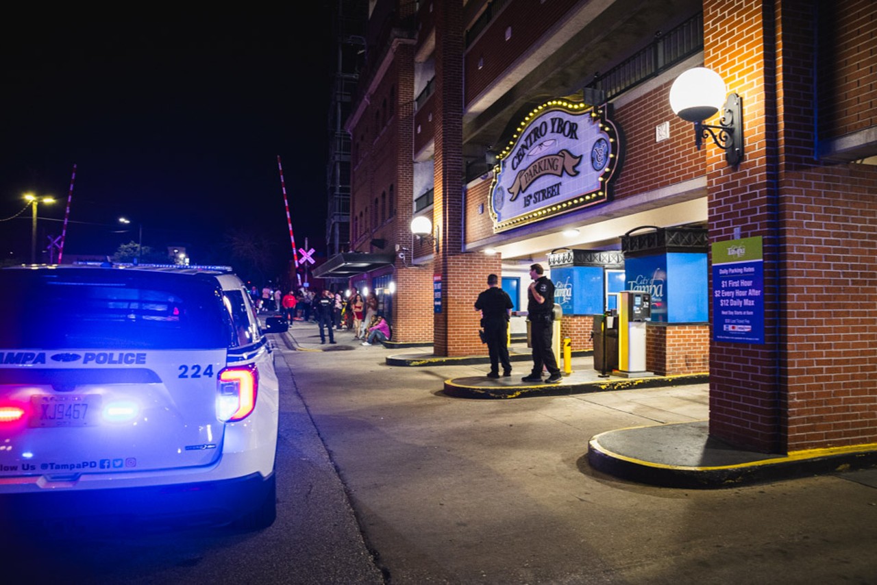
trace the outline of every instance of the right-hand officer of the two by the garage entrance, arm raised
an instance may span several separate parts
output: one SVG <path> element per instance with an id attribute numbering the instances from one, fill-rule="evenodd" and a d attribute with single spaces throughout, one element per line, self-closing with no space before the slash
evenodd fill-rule
<path id="1" fill-rule="evenodd" d="M 546 383 L 560 382 L 560 368 L 551 346 L 554 320 L 554 283 L 543 274 L 542 265 L 530 267 L 533 282 L 527 289 L 527 312 L 530 320 L 530 340 L 533 346 L 533 371 L 521 378 L 524 382 L 542 382 L 543 365 L 548 370 Z"/>

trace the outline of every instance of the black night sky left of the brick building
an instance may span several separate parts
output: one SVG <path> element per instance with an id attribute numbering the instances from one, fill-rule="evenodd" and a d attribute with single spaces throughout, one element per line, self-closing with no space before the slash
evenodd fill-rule
<path id="1" fill-rule="evenodd" d="M 65 254 L 189 246 L 217 258 L 232 228 L 264 235 L 291 258 L 277 156 L 296 245 L 324 250 L 332 38 L 325 2 L 259 13 L 103 11 L 5 18 L 0 25 L 0 253 L 30 260 L 61 235 L 77 166 Z M 131 5 L 133 8 L 135 5 Z M 136 5 L 137 10 L 146 5 Z M 84 9 L 82 9 L 84 10 Z M 127 9 L 126 9 L 127 10 Z M 43 218 L 46 218 L 45 220 Z M 3 221 L 7 220 L 7 221 Z M 46 255 L 40 259 L 46 261 Z"/>

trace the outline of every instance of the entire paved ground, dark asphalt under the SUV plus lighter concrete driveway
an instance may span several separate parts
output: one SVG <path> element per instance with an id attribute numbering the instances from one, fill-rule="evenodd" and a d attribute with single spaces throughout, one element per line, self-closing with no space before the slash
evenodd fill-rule
<path id="1" fill-rule="evenodd" d="M 460 399 L 442 382 L 486 365 L 292 337 L 273 526 L 22 541 L 0 582 L 877 583 L 873 471 L 688 490 L 588 467 L 599 432 L 707 417 L 705 385 Z"/>

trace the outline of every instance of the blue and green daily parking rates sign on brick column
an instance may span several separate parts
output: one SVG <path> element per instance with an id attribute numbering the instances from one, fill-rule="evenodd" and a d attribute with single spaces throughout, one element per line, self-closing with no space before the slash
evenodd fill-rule
<path id="1" fill-rule="evenodd" d="M 761 237 L 712 245 L 713 340 L 765 342 Z"/>

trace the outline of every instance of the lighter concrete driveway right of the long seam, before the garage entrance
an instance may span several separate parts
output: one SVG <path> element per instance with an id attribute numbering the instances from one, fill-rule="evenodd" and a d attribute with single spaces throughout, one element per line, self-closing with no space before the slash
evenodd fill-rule
<path id="1" fill-rule="evenodd" d="M 460 399 L 442 382 L 487 365 L 389 367 L 350 333 L 292 335 L 332 350 L 286 357 L 389 582 L 877 583 L 873 470 L 690 490 L 588 467 L 597 433 L 707 418 L 705 384 Z"/>

